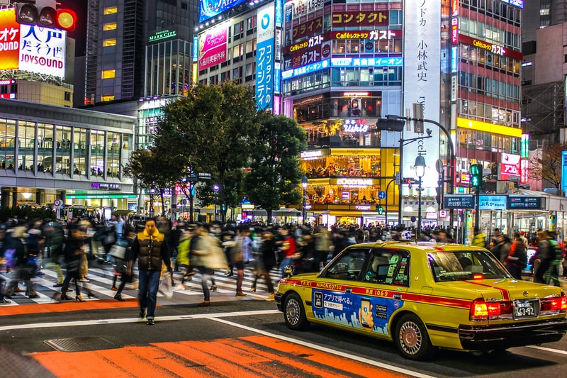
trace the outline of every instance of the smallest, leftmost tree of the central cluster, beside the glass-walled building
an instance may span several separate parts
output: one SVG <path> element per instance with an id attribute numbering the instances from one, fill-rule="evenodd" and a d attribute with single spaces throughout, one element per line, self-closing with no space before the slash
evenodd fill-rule
<path id="1" fill-rule="evenodd" d="M 162 201 L 162 215 L 165 216 L 164 194 L 166 189 L 174 186 L 179 162 L 168 158 L 169 155 L 156 147 L 147 150 L 135 150 L 124 167 L 124 173 L 135 179 L 142 189 L 150 193 L 150 202 L 153 203 L 155 194 Z M 152 193 L 155 189 L 155 194 Z M 153 206 L 152 206 L 153 208 Z M 150 209 L 150 214 L 153 209 Z"/>

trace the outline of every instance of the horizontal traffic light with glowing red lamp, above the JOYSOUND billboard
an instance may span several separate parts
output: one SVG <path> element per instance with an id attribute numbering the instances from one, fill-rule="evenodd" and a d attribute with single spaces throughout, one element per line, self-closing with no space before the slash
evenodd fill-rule
<path id="1" fill-rule="evenodd" d="M 77 13 L 71 9 L 56 9 L 55 0 L 36 0 L 35 4 L 16 3 L 16 22 L 73 31 Z"/>

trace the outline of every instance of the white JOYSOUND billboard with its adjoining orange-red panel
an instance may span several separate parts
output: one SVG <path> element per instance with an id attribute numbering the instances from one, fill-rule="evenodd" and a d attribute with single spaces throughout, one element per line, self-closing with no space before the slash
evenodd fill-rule
<path id="1" fill-rule="evenodd" d="M 0 10 L 0 70 L 65 76 L 67 32 L 16 22 L 13 8 Z"/>

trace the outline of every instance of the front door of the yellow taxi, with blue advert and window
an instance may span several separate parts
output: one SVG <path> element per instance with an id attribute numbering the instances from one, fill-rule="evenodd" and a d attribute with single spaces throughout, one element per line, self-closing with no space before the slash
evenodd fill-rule
<path id="1" fill-rule="evenodd" d="M 359 289 L 362 269 L 370 248 L 350 248 L 315 280 L 311 291 L 313 316 L 325 323 L 354 326 L 358 314 L 352 309 L 353 291 Z"/>

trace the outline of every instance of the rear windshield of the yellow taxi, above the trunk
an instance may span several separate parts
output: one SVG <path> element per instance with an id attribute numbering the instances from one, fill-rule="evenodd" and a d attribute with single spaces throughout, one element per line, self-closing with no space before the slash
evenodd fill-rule
<path id="1" fill-rule="evenodd" d="M 488 251 L 430 252 L 427 259 L 437 282 L 511 277 Z"/>

